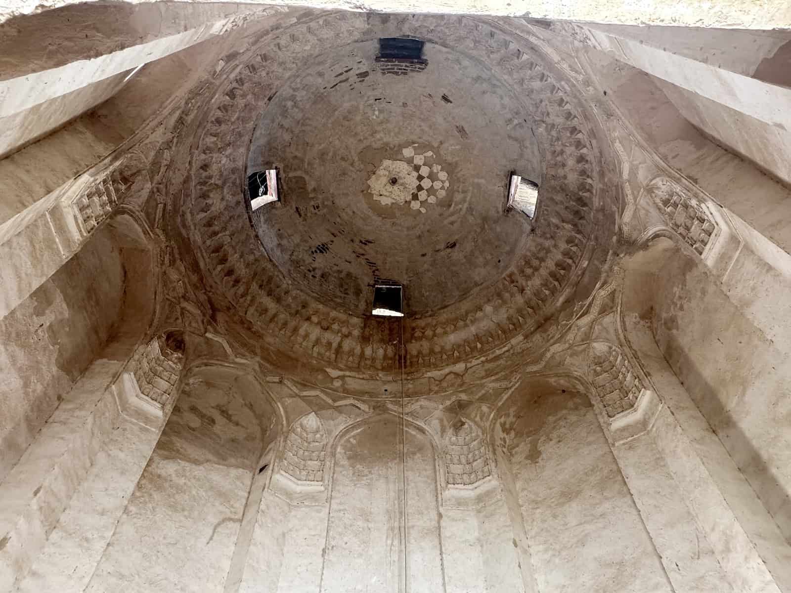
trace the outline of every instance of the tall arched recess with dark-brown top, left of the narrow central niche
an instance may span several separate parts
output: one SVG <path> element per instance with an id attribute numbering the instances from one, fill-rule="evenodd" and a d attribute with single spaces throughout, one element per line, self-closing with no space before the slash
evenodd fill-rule
<path id="1" fill-rule="evenodd" d="M 191 373 L 86 591 L 223 589 L 269 420 L 253 398 L 235 369 Z"/>

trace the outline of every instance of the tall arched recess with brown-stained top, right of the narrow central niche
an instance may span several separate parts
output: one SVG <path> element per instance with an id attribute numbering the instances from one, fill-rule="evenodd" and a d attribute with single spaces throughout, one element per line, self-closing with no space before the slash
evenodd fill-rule
<path id="1" fill-rule="evenodd" d="M 524 591 L 672 591 L 601 428 L 599 397 L 581 376 L 527 376 L 490 418 Z"/>

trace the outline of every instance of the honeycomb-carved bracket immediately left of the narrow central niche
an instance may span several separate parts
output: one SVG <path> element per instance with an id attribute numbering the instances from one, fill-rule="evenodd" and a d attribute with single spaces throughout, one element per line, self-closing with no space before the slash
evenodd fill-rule
<path id="1" fill-rule="evenodd" d="M 316 414 L 306 414 L 291 426 L 283 454 L 283 470 L 300 482 L 324 480 L 327 435 Z"/>

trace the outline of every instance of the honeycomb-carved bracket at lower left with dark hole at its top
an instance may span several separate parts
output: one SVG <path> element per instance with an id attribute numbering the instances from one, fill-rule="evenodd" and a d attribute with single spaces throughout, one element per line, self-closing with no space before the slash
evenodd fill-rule
<path id="1" fill-rule="evenodd" d="M 134 354 L 131 372 L 140 394 L 157 407 L 165 407 L 172 398 L 183 365 L 184 355 L 168 350 L 160 345 L 159 338 L 153 338 Z"/>

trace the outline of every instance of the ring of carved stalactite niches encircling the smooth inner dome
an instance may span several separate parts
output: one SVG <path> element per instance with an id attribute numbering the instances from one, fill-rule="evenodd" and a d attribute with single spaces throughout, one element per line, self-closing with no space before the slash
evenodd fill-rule
<path id="1" fill-rule="evenodd" d="M 411 26 L 415 35 L 429 31 L 438 35 L 441 29 L 432 26 L 439 23 L 440 19 L 419 17 Z M 411 370 L 453 364 L 534 329 L 583 262 L 597 207 L 595 144 L 577 105 L 566 97 L 564 84 L 503 32 L 492 29 L 491 42 L 480 47 L 471 42 L 473 24 L 462 19 L 460 25 L 455 36 L 445 41 L 469 46 L 495 64 L 515 88 L 524 89 L 540 134 L 551 146 L 544 157 L 547 176 L 542 188 L 545 195 L 555 197 L 542 206 L 541 224 L 504 278 L 436 315 L 407 320 L 404 342 Z M 342 14 L 323 19 L 309 35 L 295 27 L 290 37 L 255 55 L 229 80 L 199 139 L 191 213 L 198 237 L 195 244 L 205 252 L 208 274 L 237 312 L 264 335 L 331 364 L 384 369 L 395 361 L 384 324 L 335 311 L 288 284 L 276 266 L 261 257 L 241 199 L 227 202 L 223 197 L 239 193 L 244 158 L 241 152 L 237 157 L 229 155 L 244 150 L 246 144 L 238 139 L 245 133 L 242 127 L 259 115 L 260 97 L 278 89 L 271 73 L 290 71 L 300 54 L 301 47 L 293 40 L 319 43 L 337 35 L 339 28 L 352 38 L 359 35 L 360 26 L 354 17 Z M 261 63 L 267 68 L 262 69 Z"/>

